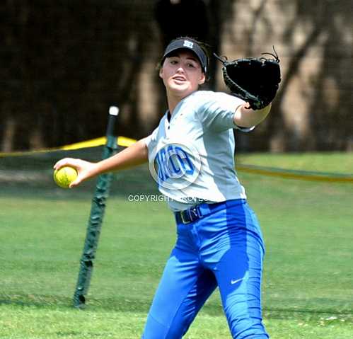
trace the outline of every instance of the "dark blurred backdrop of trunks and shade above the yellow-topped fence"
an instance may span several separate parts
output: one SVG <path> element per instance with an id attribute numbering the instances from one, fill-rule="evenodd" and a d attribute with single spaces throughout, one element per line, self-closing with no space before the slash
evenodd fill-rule
<path id="1" fill-rule="evenodd" d="M 352 0 L 4 0 L 0 19 L 0 151 L 101 137 L 110 105 L 120 135 L 146 136 L 166 108 L 156 64 L 180 35 L 230 59 L 276 48 L 272 115 L 238 151 L 353 150 Z M 210 75 L 226 91 L 214 59 Z"/>

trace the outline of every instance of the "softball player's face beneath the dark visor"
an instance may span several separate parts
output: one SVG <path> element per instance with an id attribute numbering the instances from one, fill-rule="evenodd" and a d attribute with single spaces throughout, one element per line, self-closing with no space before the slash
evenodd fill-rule
<path id="1" fill-rule="evenodd" d="M 163 79 L 167 93 L 182 98 L 197 91 L 199 85 L 204 84 L 205 81 L 199 59 L 187 50 L 167 57 L 159 71 L 159 76 Z"/>

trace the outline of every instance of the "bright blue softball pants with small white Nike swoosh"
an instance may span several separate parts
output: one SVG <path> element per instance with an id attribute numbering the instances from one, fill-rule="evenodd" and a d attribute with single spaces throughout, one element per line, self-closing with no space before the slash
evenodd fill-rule
<path id="1" fill-rule="evenodd" d="M 212 209 L 199 206 L 202 218 L 190 224 L 177 222 L 178 238 L 142 339 L 182 338 L 216 287 L 232 338 L 270 338 L 262 324 L 265 248 L 255 213 L 246 200 L 228 200 Z"/>

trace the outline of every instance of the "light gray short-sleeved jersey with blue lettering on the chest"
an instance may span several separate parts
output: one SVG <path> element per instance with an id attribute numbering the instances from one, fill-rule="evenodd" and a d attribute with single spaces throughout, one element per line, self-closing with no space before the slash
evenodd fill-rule
<path id="1" fill-rule="evenodd" d="M 226 93 L 196 91 L 168 112 L 146 138 L 149 167 L 173 211 L 200 202 L 245 199 L 236 176 L 233 116 L 243 100 Z"/>

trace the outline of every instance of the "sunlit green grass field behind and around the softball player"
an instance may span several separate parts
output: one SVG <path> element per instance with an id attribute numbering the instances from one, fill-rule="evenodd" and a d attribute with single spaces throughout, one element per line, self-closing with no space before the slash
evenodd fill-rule
<path id="1" fill-rule="evenodd" d="M 352 154 L 244 155 L 240 162 L 353 173 Z M 0 182 L 0 338 L 139 338 L 175 241 L 173 217 L 164 202 L 129 202 L 125 176 L 133 173 L 118 174 L 87 306 L 74 309 L 91 193 L 56 188 L 50 175 L 48 167 L 45 188 Z M 267 246 L 262 304 L 271 338 L 353 338 L 353 184 L 240 177 Z M 185 338 L 231 338 L 218 292 Z"/>

